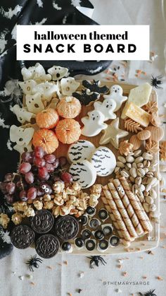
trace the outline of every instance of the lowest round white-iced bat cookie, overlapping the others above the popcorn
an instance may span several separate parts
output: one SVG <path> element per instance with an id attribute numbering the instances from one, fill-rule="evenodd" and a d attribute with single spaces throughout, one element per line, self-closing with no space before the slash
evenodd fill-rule
<path id="1" fill-rule="evenodd" d="M 88 160 L 72 162 L 69 172 L 72 174 L 73 181 L 79 182 L 82 188 L 89 188 L 96 181 L 96 170 Z"/>

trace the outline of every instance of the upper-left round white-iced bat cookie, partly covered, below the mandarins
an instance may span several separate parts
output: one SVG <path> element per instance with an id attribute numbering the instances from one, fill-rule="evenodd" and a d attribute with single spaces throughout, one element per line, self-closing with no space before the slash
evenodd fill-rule
<path id="1" fill-rule="evenodd" d="M 68 149 L 68 161 L 89 160 L 96 150 L 93 143 L 86 140 L 79 140 L 70 145 Z"/>

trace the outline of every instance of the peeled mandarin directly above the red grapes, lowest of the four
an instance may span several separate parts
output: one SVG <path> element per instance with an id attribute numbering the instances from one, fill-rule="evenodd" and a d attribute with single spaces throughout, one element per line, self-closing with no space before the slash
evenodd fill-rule
<path id="1" fill-rule="evenodd" d="M 58 148 L 58 139 L 56 134 L 49 129 L 39 129 L 34 132 L 32 139 L 33 146 L 41 146 L 46 153 L 53 153 Z"/>

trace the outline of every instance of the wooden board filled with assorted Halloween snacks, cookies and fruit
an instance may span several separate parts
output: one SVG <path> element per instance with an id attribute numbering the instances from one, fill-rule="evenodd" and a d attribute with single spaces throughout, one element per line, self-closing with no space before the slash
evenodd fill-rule
<path id="1" fill-rule="evenodd" d="M 20 83 L 24 105 L 13 112 L 24 125 L 11 126 L 10 133 L 23 154 L 19 172 L 5 177 L 13 215 L 1 214 L 0 223 L 11 225 L 13 242 L 17 227 L 24 235 L 26 224 L 43 258 L 58 251 L 153 249 L 159 241 L 163 135 L 155 90 L 148 83 L 75 81 L 64 77 L 67 70 L 58 79 L 53 66 L 49 74 L 42 71 L 28 81 L 24 76 Z M 15 178 L 21 181 L 18 189 Z"/>

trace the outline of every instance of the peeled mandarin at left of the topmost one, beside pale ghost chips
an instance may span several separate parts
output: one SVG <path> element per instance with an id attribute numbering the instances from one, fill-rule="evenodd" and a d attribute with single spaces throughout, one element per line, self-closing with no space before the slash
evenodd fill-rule
<path id="1" fill-rule="evenodd" d="M 36 116 L 37 125 L 41 129 L 53 129 L 58 123 L 59 116 L 56 110 L 49 108 L 39 112 Z"/>

